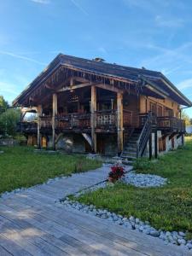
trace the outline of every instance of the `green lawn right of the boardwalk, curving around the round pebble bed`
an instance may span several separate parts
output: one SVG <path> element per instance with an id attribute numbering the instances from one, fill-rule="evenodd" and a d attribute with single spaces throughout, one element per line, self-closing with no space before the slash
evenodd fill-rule
<path id="1" fill-rule="evenodd" d="M 184 148 L 161 156 L 157 162 L 140 163 L 137 172 L 167 177 L 170 183 L 158 189 L 138 189 L 116 183 L 82 195 L 79 201 L 148 220 L 157 229 L 192 233 L 192 137 L 187 138 Z"/>

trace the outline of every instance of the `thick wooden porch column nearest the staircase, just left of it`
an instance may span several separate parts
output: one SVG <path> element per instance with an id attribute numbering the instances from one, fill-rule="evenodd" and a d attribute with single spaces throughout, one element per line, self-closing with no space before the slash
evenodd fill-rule
<path id="1" fill-rule="evenodd" d="M 123 94 L 117 93 L 117 135 L 118 135 L 118 154 L 121 154 L 124 147 L 123 142 Z"/>

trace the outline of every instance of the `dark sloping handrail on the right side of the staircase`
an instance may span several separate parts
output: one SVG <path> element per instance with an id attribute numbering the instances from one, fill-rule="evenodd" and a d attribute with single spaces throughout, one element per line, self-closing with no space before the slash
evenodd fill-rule
<path id="1" fill-rule="evenodd" d="M 144 149 L 148 143 L 148 138 L 152 131 L 152 126 L 154 125 L 153 123 L 153 114 L 149 112 L 143 124 L 143 130 L 137 140 L 137 157 L 141 157 L 143 155 Z"/>

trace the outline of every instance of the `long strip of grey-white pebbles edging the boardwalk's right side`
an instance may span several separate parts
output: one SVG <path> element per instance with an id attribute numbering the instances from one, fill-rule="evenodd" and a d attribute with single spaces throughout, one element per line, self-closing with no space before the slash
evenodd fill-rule
<path id="1" fill-rule="evenodd" d="M 97 209 L 94 205 L 88 206 L 84 205 L 83 203 L 79 203 L 79 201 L 71 201 L 68 197 L 60 202 L 65 207 L 73 208 L 80 212 L 85 212 L 87 214 L 102 218 L 105 221 L 112 222 L 114 224 L 119 224 L 125 229 L 143 232 L 143 234 L 146 234 L 148 236 L 154 236 L 165 241 L 166 244 L 172 243 L 192 251 L 192 240 L 187 240 L 186 233 L 183 231 L 169 232 L 163 230 L 156 230 L 148 223 L 148 221 L 143 222 L 139 218 L 135 218 L 133 216 L 126 218 L 114 212 L 109 212 L 106 209 Z"/>

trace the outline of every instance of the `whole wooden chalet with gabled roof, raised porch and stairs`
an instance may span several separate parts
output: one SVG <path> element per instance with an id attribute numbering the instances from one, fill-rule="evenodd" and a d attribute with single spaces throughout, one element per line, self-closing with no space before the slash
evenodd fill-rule
<path id="1" fill-rule="evenodd" d="M 38 148 L 121 154 L 131 160 L 183 143 L 181 106 L 188 98 L 145 68 L 57 55 L 18 96 L 19 129 Z M 25 113 L 38 120 L 25 121 Z"/>

